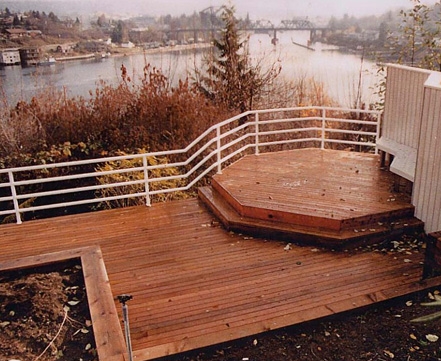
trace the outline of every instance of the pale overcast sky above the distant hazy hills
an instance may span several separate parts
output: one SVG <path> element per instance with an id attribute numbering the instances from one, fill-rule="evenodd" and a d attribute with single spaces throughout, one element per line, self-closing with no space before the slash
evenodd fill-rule
<path id="1" fill-rule="evenodd" d="M 5 0 L 0 0 L 0 4 Z M 6 0 L 11 2 L 11 0 Z M 314 18 L 322 16 L 341 17 L 344 14 L 362 16 L 379 15 L 388 10 L 412 7 L 412 0 L 12 0 L 12 3 L 43 1 L 55 3 L 60 1 L 66 10 L 81 4 L 83 11 L 118 13 L 121 15 L 167 15 L 179 16 L 192 14 L 207 7 L 218 7 L 228 1 L 236 7 L 237 15 L 250 15 L 252 20 L 285 20 L 296 16 Z M 422 0 L 432 5 L 440 0 Z M 75 6 L 77 5 L 77 6 Z"/>

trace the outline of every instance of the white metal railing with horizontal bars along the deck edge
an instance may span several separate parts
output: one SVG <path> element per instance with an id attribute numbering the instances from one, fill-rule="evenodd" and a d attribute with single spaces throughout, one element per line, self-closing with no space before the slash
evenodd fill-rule
<path id="1" fill-rule="evenodd" d="M 350 115 L 370 119 L 350 119 Z M 377 152 L 380 118 L 378 111 L 319 106 L 253 110 L 211 126 L 184 149 L 0 169 L 0 216 L 15 215 L 17 223 L 21 223 L 21 215 L 26 212 L 135 197 L 145 197 L 146 205 L 150 205 L 155 195 L 186 191 L 210 172 L 221 173 L 222 166 L 235 157 L 246 152 L 259 154 L 264 148 L 271 151 L 277 145 L 304 143 L 324 149 L 338 143 L 371 147 Z M 358 139 L 344 139 L 348 135 Z M 153 158 L 177 160 L 150 164 Z M 124 162 L 131 163 L 103 169 L 106 164 Z M 69 169 L 74 169 L 74 173 Z M 83 185 L 71 185 L 80 180 Z M 119 190 L 118 194 L 102 196 L 109 189 Z M 74 199 L 64 200 L 65 196 Z M 36 199 L 44 201 L 34 205 Z"/>

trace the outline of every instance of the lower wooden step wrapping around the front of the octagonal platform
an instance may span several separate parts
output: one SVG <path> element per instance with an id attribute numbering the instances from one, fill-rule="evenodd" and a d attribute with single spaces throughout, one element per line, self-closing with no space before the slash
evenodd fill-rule
<path id="1" fill-rule="evenodd" d="M 342 230 L 302 226 L 273 220 L 262 220 L 241 216 L 215 189 L 200 187 L 199 199 L 231 231 L 259 237 L 282 239 L 305 245 L 318 245 L 333 249 L 348 249 L 360 245 L 374 244 L 402 234 L 421 232 L 424 223 L 404 212 L 402 217 L 392 220 L 360 225 Z"/>

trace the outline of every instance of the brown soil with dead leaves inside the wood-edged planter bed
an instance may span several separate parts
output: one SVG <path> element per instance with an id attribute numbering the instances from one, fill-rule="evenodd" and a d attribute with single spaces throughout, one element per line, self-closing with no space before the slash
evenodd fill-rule
<path id="1" fill-rule="evenodd" d="M 97 360 L 78 260 L 0 273 L 0 361 Z"/>

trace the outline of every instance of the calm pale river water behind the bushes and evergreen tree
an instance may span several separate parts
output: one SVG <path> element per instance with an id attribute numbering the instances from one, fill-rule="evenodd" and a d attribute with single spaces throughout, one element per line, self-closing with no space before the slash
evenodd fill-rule
<path id="1" fill-rule="evenodd" d="M 281 76 L 289 80 L 299 77 L 314 78 L 322 82 L 327 92 L 342 106 L 351 106 L 357 93 L 359 76 L 362 74 L 363 101 L 375 101 L 373 88 L 377 84 L 376 66 L 357 55 L 341 54 L 336 51 L 316 51 L 296 46 L 292 41 L 306 44 L 308 32 L 288 31 L 278 33 L 279 43 L 271 45 L 267 34 L 254 34 L 250 38 L 250 51 L 256 58 L 272 62 L 280 60 Z M 172 82 L 193 74 L 201 64 L 202 54 L 197 53 L 157 53 L 110 57 L 103 60 L 82 60 L 56 63 L 47 67 L 22 68 L 21 66 L 0 69 L 1 87 L 8 103 L 15 104 L 20 99 L 29 100 L 48 86 L 64 89 L 68 96 L 89 96 L 100 81 L 117 84 L 121 65 L 128 69 L 133 79 L 139 79 L 145 64 L 161 68 Z"/>

